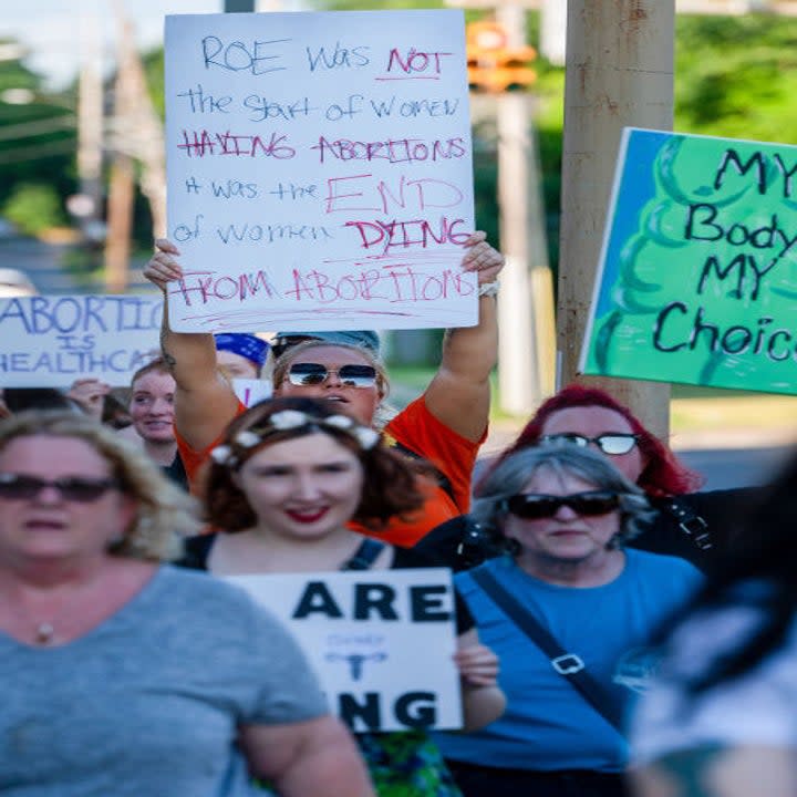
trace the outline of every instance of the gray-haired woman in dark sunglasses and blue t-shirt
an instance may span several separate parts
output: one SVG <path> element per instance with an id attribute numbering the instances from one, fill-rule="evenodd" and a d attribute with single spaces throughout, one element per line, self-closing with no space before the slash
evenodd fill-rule
<path id="1" fill-rule="evenodd" d="M 474 518 L 506 552 L 456 586 L 508 707 L 441 734 L 466 797 L 627 794 L 623 715 L 655 664 L 645 645 L 701 582 L 682 559 L 624 549 L 649 513 L 639 487 L 575 446 L 519 451 L 480 483 Z"/>

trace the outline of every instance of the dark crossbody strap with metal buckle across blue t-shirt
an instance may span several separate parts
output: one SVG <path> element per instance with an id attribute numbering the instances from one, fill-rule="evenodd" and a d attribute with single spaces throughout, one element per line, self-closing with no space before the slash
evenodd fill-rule
<path id="1" fill-rule="evenodd" d="M 587 672 L 586 665 L 577 653 L 568 653 L 551 635 L 531 612 L 500 583 L 493 573 L 478 568 L 472 570 L 474 581 L 493 599 L 504 613 L 548 656 L 551 666 L 575 689 L 581 696 L 621 734 L 623 733 L 622 715 L 613 701 L 605 694 L 603 687 Z"/>

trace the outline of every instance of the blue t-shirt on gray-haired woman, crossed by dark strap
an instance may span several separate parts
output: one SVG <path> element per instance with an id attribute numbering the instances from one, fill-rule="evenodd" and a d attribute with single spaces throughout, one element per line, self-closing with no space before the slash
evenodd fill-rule
<path id="1" fill-rule="evenodd" d="M 702 576 L 675 557 L 627 550 L 617 579 L 601 587 L 573 588 L 540 581 L 508 557 L 489 570 L 531 611 L 568 653 L 618 705 L 628 710 L 658 658 L 646 649 L 651 632 L 701 586 Z M 505 714 L 480 731 L 438 734 L 446 757 L 494 767 L 617 772 L 628 758 L 621 734 L 559 675 L 548 658 L 475 583 L 455 578 L 476 618 L 480 641 L 500 660 L 498 682 L 507 696 Z"/>

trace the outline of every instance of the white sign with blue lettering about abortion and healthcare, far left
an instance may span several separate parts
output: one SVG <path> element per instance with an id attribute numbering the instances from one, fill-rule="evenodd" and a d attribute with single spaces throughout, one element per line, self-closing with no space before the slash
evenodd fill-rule
<path id="1" fill-rule="evenodd" d="M 161 296 L 0 299 L 0 387 L 112 386 L 161 353 Z"/>

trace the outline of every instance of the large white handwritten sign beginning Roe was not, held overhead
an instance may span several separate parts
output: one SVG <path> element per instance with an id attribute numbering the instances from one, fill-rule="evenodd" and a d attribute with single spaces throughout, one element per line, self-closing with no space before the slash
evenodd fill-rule
<path id="1" fill-rule="evenodd" d="M 166 18 L 178 331 L 476 323 L 462 11 Z"/>

